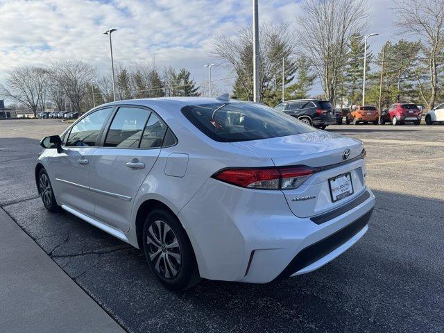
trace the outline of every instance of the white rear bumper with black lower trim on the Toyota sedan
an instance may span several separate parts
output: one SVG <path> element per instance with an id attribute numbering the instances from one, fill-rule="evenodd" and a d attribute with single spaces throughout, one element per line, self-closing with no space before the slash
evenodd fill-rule
<path id="1" fill-rule="evenodd" d="M 365 193 L 365 200 L 339 215 L 334 212 L 345 205 L 327 212 L 331 219 L 318 223 L 318 216 L 295 216 L 278 191 L 210 179 L 178 217 L 202 278 L 266 283 L 313 271 L 355 244 L 368 230 L 375 205 L 370 189 Z"/>

